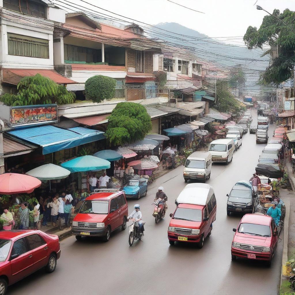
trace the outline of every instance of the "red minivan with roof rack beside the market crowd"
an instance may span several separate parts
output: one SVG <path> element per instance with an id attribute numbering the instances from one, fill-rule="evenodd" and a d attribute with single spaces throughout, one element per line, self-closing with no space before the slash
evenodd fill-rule
<path id="1" fill-rule="evenodd" d="M 83 202 L 72 223 L 72 234 L 77 240 L 82 236 L 103 237 L 107 242 L 112 231 L 126 228 L 128 205 L 124 192 L 101 189 Z"/>

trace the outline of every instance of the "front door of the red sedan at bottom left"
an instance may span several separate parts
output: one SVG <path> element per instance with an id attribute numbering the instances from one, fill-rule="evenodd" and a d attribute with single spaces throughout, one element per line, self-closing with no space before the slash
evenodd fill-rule
<path id="1" fill-rule="evenodd" d="M 28 247 L 25 237 L 14 241 L 10 256 L 11 282 L 15 283 L 20 279 L 34 272 L 34 260 L 32 251 Z"/>

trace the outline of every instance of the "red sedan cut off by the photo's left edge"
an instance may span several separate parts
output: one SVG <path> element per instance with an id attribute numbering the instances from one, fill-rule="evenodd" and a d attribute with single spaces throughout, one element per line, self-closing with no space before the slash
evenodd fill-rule
<path id="1" fill-rule="evenodd" d="M 31 273 L 45 267 L 52 273 L 60 258 L 57 235 L 40 230 L 7 230 L 0 232 L 0 294 Z"/>

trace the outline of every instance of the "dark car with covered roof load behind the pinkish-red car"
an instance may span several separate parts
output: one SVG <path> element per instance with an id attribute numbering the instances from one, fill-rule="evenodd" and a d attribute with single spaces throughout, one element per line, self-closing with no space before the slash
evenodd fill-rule
<path id="1" fill-rule="evenodd" d="M 258 198 L 252 184 L 249 181 L 238 181 L 227 194 L 227 215 L 230 212 L 254 212 L 258 205 Z"/>

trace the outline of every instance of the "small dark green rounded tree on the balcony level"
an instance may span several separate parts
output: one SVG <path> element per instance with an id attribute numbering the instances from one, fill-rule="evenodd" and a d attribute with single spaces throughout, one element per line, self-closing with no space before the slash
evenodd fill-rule
<path id="1" fill-rule="evenodd" d="M 93 102 L 101 102 L 104 99 L 114 97 L 117 81 L 114 78 L 96 75 L 86 80 L 85 95 L 86 99 Z"/>

